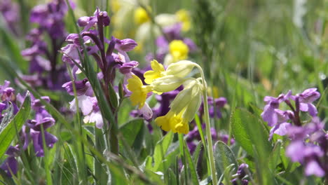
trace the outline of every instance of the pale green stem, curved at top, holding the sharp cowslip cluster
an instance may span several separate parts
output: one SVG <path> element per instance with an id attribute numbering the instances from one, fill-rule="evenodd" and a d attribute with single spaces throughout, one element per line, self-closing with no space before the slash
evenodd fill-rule
<path id="1" fill-rule="evenodd" d="M 212 144 L 212 135 L 211 135 L 211 125 L 210 125 L 210 114 L 208 113 L 208 102 L 207 102 L 207 83 L 205 81 L 205 76 L 203 69 L 196 64 L 196 67 L 200 70 L 203 81 L 203 102 L 204 102 L 204 116 L 205 116 L 205 125 L 206 125 L 206 137 L 207 137 L 207 155 L 210 160 L 210 170 L 212 173 L 212 184 L 217 185 L 217 170 L 215 169 L 214 163 L 214 153 L 213 153 L 213 144 Z"/>

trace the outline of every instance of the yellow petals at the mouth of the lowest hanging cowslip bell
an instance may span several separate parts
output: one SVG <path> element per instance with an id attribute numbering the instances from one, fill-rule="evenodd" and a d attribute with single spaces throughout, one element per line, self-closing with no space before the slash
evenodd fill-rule
<path id="1" fill-rule="evenodd" d="M 155 119 L 155 122 L 160 128 L 165 131 L 179 132 L 182 134 L 188 134 L 189 125 L 188 121 L 183 118 L 183 112 L 180 114 L 175 114 L 172 111 L 169 111 L 165 116 L 160 116 Z"/>

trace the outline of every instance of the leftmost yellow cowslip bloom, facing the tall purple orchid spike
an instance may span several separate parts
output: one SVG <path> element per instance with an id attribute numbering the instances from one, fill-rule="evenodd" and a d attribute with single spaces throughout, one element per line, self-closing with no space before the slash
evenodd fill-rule
<path id="1" fill-rule="evenodd" d="M 132 105 L 138 105 L 139 109 L 144 107 L 144 102 L 146 102 L 147 94 L 152 90 L 151 86 L 143 85 L 138 76 L 132 75 L 132 77 L 128 79 L 127 88 L 132 92 L 130 95 Z"/>

